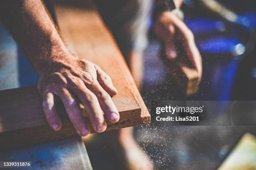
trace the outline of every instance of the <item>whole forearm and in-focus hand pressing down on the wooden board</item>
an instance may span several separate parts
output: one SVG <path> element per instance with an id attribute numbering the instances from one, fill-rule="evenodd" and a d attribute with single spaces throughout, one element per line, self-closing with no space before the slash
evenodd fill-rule
<path id="1" fill-rule="evenodd" d="M 54 102 L 57 96 L 81 136 L 89 134 L 90 129 L 79 102 L 96 132 L 107 127 L 103 112 L 110 122 L 118 122 L 119 113 L 110 97 L 117 90 L 110 77 L 97 65 L 69 53 L 41 0 L 2 0 L 0 20 L 39 75 L 38 90 L 44 100 L 46 119 L 54 130 L 62 125 Z"/>

